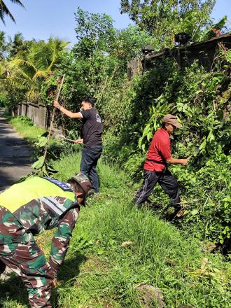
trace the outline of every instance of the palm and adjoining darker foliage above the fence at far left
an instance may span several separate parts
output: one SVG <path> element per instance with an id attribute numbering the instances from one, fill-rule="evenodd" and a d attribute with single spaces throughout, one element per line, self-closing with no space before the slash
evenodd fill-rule
<path id="1" fill-rule="evenodd" d="M 23 41 L 21 34 L 15 35 L 8 45 L 9 57 L 3 63 L 3 88 L 8 97 L 20 92 L 20 99 L 39 102 L 41 85 L 58 64 L 68 42 L 58 38 L 45 41 Z M 15 97 L 10 99 L 12 104 Z M 19 98 L 18 98 L 19 99 Z M 16 102 L 18 101 L 16 99 Z"/>

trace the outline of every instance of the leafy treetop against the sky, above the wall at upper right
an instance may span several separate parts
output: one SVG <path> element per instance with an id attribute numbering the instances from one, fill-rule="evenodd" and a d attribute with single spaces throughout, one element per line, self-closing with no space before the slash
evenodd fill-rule
<path id="1" fill-rule="evenodd" d="M 197 40 L 204 27 L 211 25 L 209 15 L 215 0 L 121 0 L 120 12 L 128 13 L 141 29 L 155 37 L 155 48 L 174 45 L 174 34 L 185 31 Z"/>

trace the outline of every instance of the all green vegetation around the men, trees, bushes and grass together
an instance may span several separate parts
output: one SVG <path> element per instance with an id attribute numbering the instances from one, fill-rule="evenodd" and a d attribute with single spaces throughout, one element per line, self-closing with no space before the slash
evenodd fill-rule
<path id="1" fill-rule="evenodd" d="M 113 27 L 110 16 L 79 8 L 78 43 L 70 52 L 60 41 L 52 49 L 52 40 L 27 42 L 18 37 L 6 44 L 4 35 L 0 36 L 1 105 L 13 108 L 34 97 L 51 106 L 57 78 L 66 73 L 60 104 L 78 111 L 80 99 L 92 95 L 104 120 L 102 160 L 107 165 L 100 165 L 102 193 L 89 201 L 90 207 L 82 209 L 68 260 L 59 276 L 59 306 L 140 307 L 134 286 L 145 282 L 162 289 L 167 307 L 229 307 L 230 269 L 218 252 L 222 249 L 227 258 L 230 253 L 230 50 L 220 45 L 210 70 L 197 61 L 180 70 L 175 59 L 159 57 L 152 69 L 127 79 L 127 61 L 141 57 L 144 45 L 153 44 L 155 50 L 173 45 L 174 31 L 188 29 L 200 41 L 221 31 L 225 18 L 217 24 L 209 19 L 215 1 L 181 1 L 177 10 L 177 1 L 158 1 L 156 10 L 152 10 L 157 13 L 154 19 L 149 15 L 150 1 L 142 7 L 142 1 L 132 1 L 134 5 L 128 6 L 130 2 L 121 1 L 121 8 L 134 15 L 137 25 L 122 31 Z M 144 22 L 148 17 L 152 29 Z M 160 20 L 162 25 L 155 24 Z M 46 52 L 50 62 L 45 66 Z M 165 220 L 171 207 L 158 187 L 151 201 L 161 207 L 154 213 L 137 211 L 130 205 L 141 185 L 151 138 L 167 113 L 176 114 L 183 124 L 172 140 L 173 156 L 190 156 L 187 167 L 171 167 L 185 209 L 181 220 L 172 221 L 174 225 L 159 220 Z M 27 122 L 24 118 L 19 121 L 20 126 Z M 59 114 L 56 125 L 69 137 L 78 138 L 80 122 Z M 50 160 L 59 170 L 59 179 L 66 180 L 78 171 L 77 147 L 56 141 L 51 144 Z M 38 155 L 41 148 L 38 145 Z M 67 155 L 70 152 L 73 154 Z M 118 165 L 124 172 L 118 172 Z M 48 241 L 41 239 L 47 250 Z M 122 248 L 123 241 L 132 244 Z M 20 296 L 18 301 L 24 304 Z M 6 307 L 15 307 L 15 302 L 8 299 Z"/>

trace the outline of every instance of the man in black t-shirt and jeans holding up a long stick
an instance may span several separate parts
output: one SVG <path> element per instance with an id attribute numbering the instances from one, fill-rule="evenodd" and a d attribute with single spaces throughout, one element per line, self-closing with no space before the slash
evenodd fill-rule
<path id="1" fill-rule="evenodd" d="M 102 154 L 102 120 L 94 109 L 94 99 L 85 97 L 81 102 L 81 111 L 68 111 L 59 102 L 54 101 L 55 108 L 72 119 L 83 120 L 83 139 L 77 139 L 76 144 L 83 144 L 80 172 L 89 177 L 94 193 L 99 192 L 99 176 L 96 172 L 97 162 Z"/>

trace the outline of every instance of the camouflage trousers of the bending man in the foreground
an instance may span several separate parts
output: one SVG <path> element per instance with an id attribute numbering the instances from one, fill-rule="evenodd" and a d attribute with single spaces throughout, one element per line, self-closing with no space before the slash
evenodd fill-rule
<path id="1" fill-rule="evenodd" d="M 49 302 L 55 278 L 50 264 L 31 233 L 7 209 L 0 207 L 0 267 L 3 264 L 18 274 L 34 308 L 51 308 Z"/>

